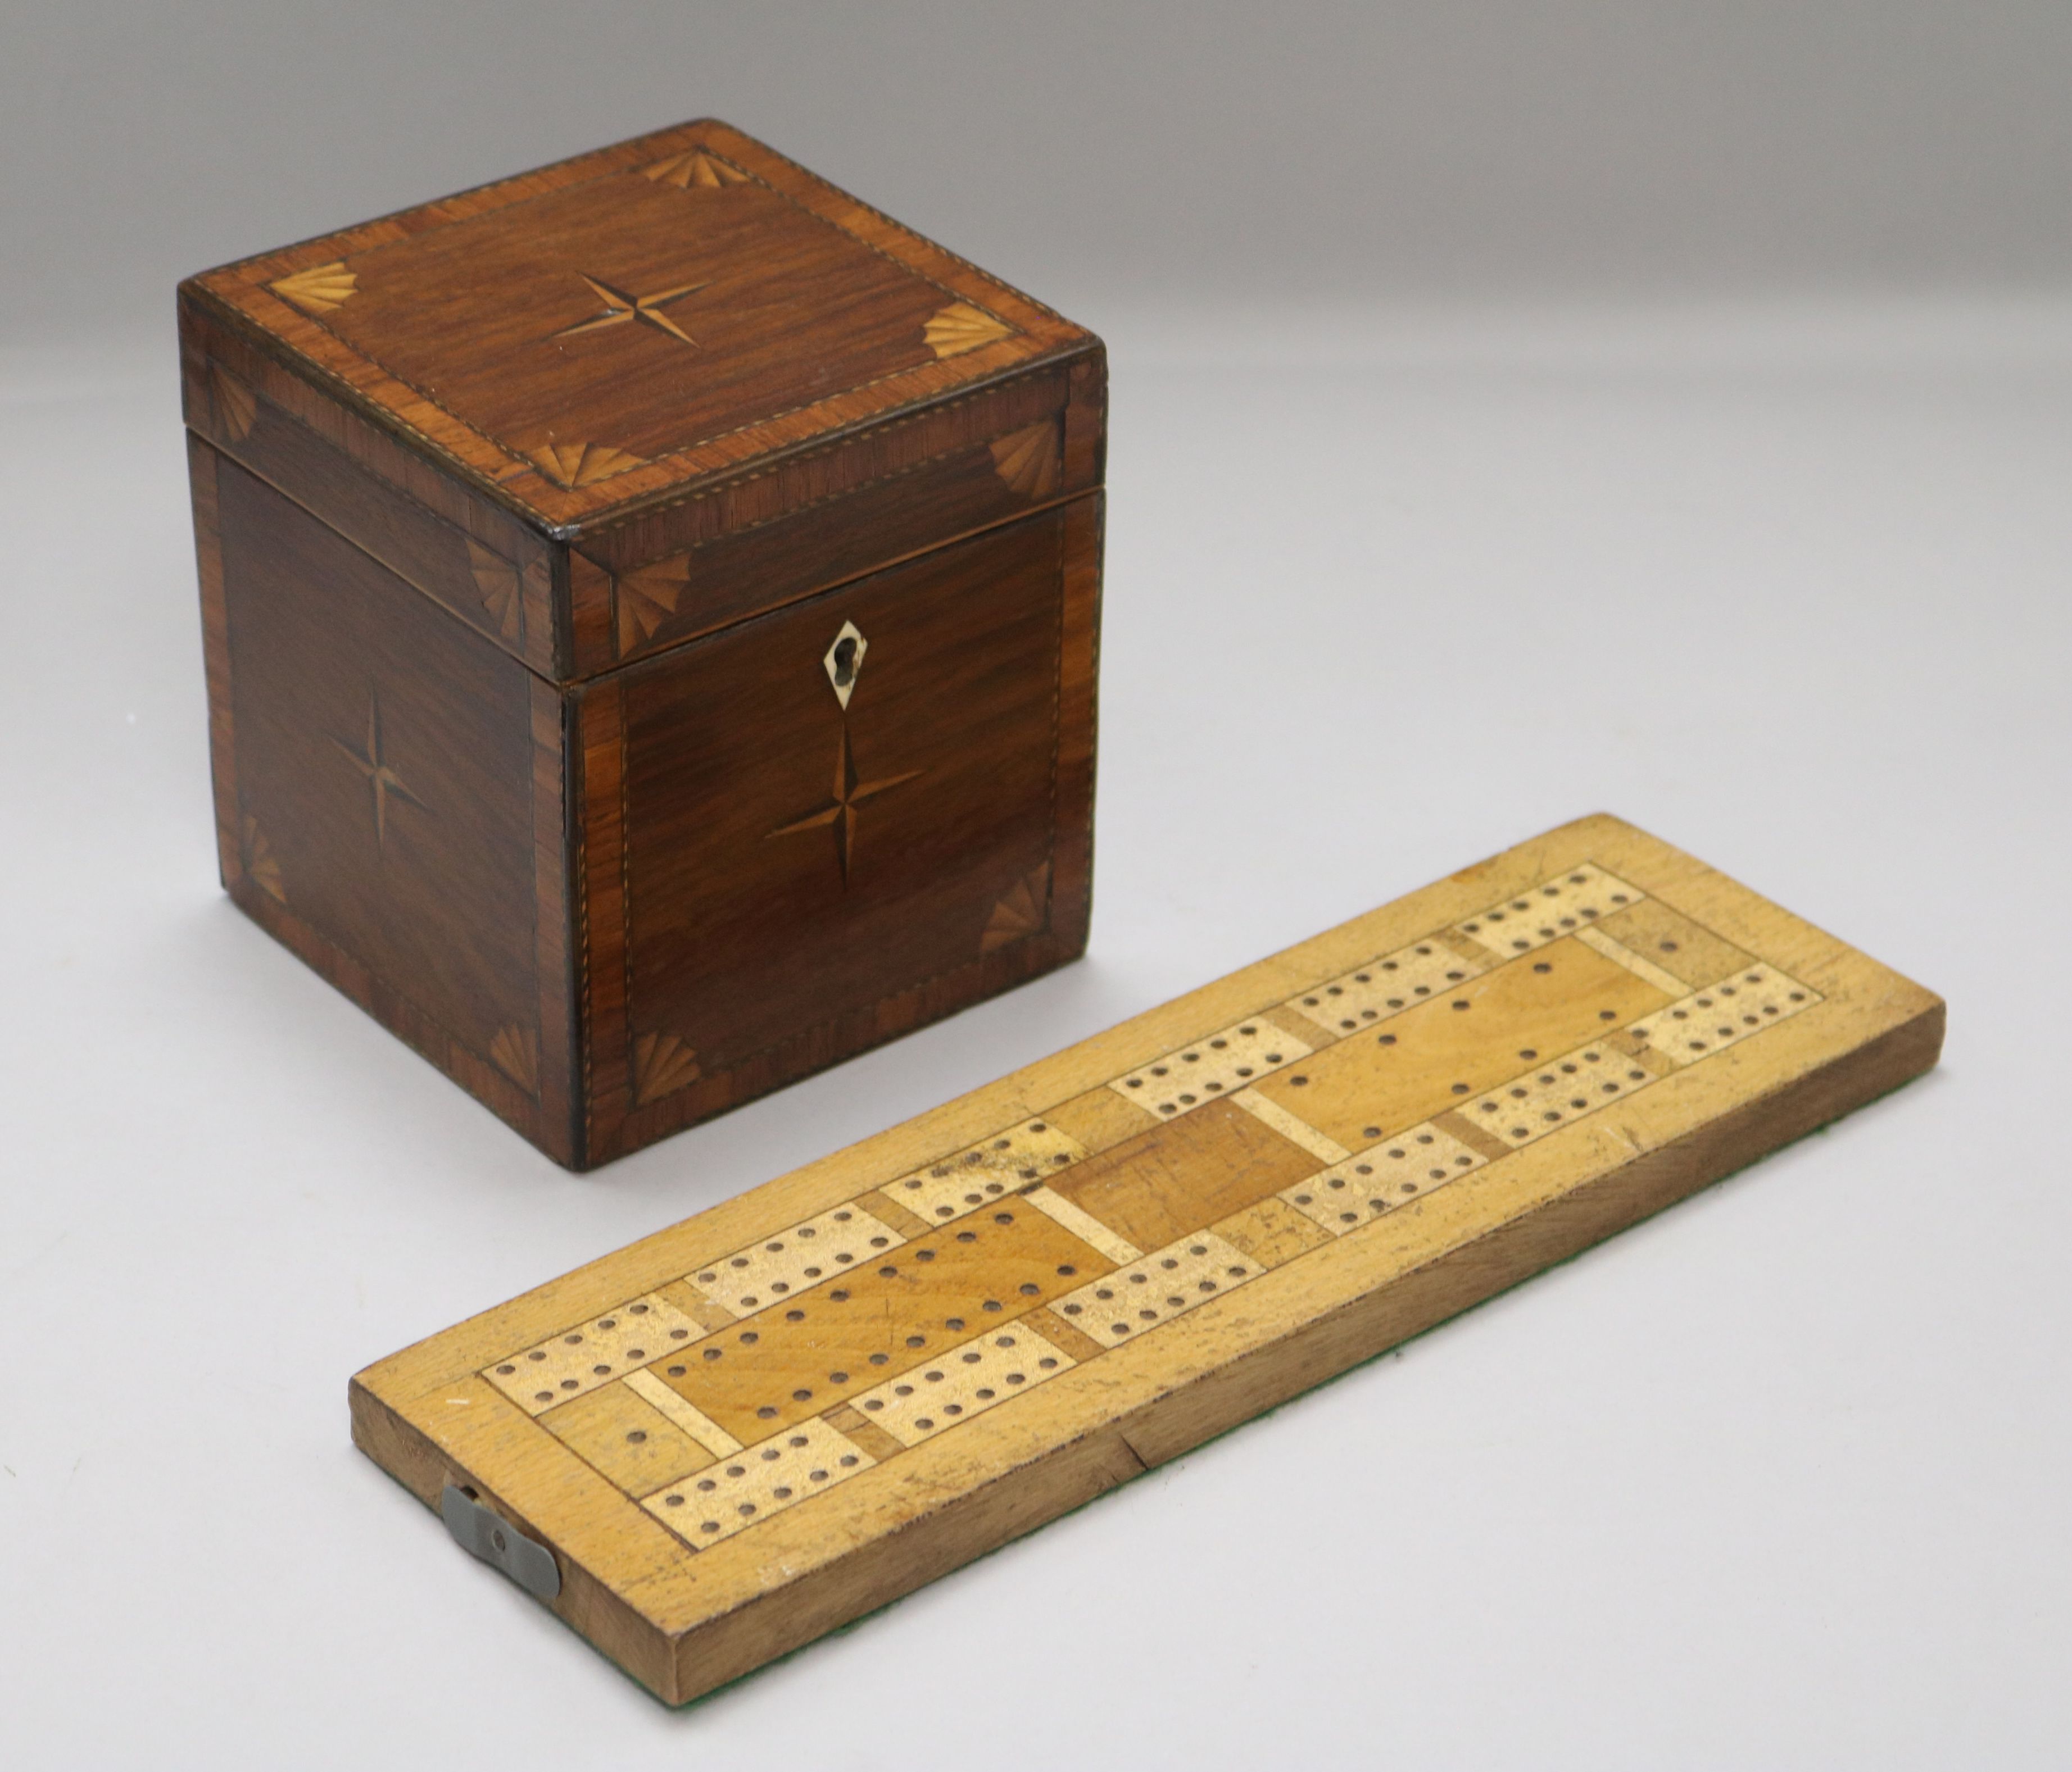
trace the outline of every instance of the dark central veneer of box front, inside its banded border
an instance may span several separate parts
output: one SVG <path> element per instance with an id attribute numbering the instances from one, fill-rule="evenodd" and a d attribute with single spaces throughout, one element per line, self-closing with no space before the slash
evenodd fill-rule
<path id="1" fill-rule="evenodd" d="M 995 533 L 638 678 L 636 1034 L 717 1071 L 794 1026 L 771 953 L 839 1013 L 1040 937 L 1046 897 L 1011 931 L 997 906 L 1055 848 L 1057 645 L 1042 553 Z"/>

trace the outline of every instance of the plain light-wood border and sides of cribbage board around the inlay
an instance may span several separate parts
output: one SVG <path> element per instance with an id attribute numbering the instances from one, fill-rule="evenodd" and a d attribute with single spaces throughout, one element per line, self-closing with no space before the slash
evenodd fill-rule
<path id="1" fill-rule="evenodd" d="M 1256 1279 L 1251 1308 L 1235 1318 L 1229 1310 L 1220 1318 L 1189 1316 L 1162 1328 L 1156 1343 L 1106 1351 L 1098 1389 L 1113 1393 L 1115 1405 L 1063 1445 L 1053 1418 L 1071 1411 L 1067 1380 L 1086 1380 L 1084 1368 L 1053 1380 L 1063 1387 L 1055 1397 L 1009 1411 L 1005 1428 L 990 1416 L 992 1432 L 970 1445 L 945 1436 L 908 1447 L 891 1476 L 881 1467 L 858 1478 L 843 1509 L 827 1496 L 758 1523 L 754 1556 L 729 1559 L 733 1544 L 717 1544 L 686 1559 L 663 1525 L 474 1376 L 526 1341 L 613 1310 L 777 1227 L 1100 1088 L 1146 1053 L 1260 1016 L 1262 1005 L 1585 860 L 1637 877 L 1649 895 L 1668 893 L 1685 908 L 1701 899 L 1707 928 L 1803 978 L 1821 1001 L 1794 1020 L 1796 1032 L 1782 1045 L 1765 1030 L 1765 1040 L 1740 1049 L 1724 1071 L 1720 1055 L 1707 1067 L 1680 1071 L 1680 1090 L 1653 1092 L 1651 1117 L 1687 1125 L 1641 1154 L 1600 1148 L 1595 1167 L 1583 1165 L 1579 1179 L 1573 1134 L 1598 1146 L 1608 1136 L 1608 1123 L 1579 1121 L 1510 1152 L 1502 1212 L 1490 1210 L 1488 1190 L 1436 1192 L 1392 1221 L 1413 1227 L 1392 1239 L 1394 1258 L 1372 1239 L 1343 1237 L 1310 1250 L 1301 1275 L 1291 1264 Z M 1809 1020 L 1817 1011 L 1819 1020 Z M 1825 1038 L 1821 1022 L 1832 1024 Z M 371 1366 L 352 1387 L 354 1438 L 429 1505 L 437 1505 L 445 1480 L 466 1482 L 553 1544 L 566 1571 L 557 1610 L 659 1695 L 684 1702 L 1883 1094 L 1927 1069 L 1939 1040 L 1941 1003 L 1931 993 L 1622 821 L 1581 819 Z M 1740 1078 L 1749 1067 L 1776 1071 L 1774 1084 L 1724 1113 L 1699 1101 L 1745 1096 Z M 1711 1071 L 1709 1084 L 1701 1069 Z M 1643 1101 L 1635 1094 L 1627 1107 Z M 1539 1198 L 1531 1198 L 1535 1175 Z M 1258 1318 L 1278 1326 L 1262 1335 Z M 1204 1341 L 1216 1345 L 1196 1347 Z M 1183 1355 L 1191 1347 L 1198 1357 L 1189 1362 Z M 1077 1389 L 1084 1393 L 1084 1382 Z M 454 1426 L 462 1395 L 466 1430 Z M 970 1436 L 970 1428 L 961 1434 Z M 1007 1440 L 1015 1447 L 1003 1457 Z M 868 1530 L 831 1532 L 854 1525 L 843 1517 L 864 1507 L 864 1490 L 876 1501 Z M 887 1509 L 889 1494 L 897 1494 L 897 1507 Z M 887 1511 L 895 1515 L 891 1525 Z M 644 1565 L 640 1573 L 628 1577 L 628 1559 Z M 702 1573 L 684 1567 L 692 1561 Z M 767 1567 L 781 1569 L 783 1579 L 771 1583 Z"/>

